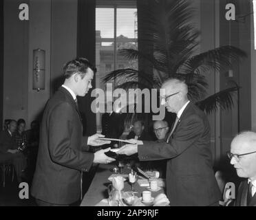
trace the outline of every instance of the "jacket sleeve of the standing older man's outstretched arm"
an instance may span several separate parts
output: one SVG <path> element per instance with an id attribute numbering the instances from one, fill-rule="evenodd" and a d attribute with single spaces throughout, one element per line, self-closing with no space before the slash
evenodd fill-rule
<path id="1" fill-rule="evenodd" d="M 169 143 L 143 141 L 143 145 L 138 145 L 139 159 L 156 160 L 177 157 L 192 146 L 204 132 L 204 122 L 198 115 L 191 115 L 181 123 Z"/>

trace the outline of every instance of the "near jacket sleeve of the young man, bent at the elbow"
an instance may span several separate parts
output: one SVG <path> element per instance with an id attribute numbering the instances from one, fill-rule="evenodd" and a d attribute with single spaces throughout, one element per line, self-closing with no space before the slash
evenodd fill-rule
<path id="1" fill-rule="evenodd" d="M 80 146 L 71 146 L 71 144 L 75 144 L 71 143 L 74 123 L 72 117 L 73 109 L 66 102 L 58 104 L 50 113 L 48 121 L 50 156 L 54 162 L 62 166 L 88 171 L 94 161 L 94 154 L 78 151 Z"/>

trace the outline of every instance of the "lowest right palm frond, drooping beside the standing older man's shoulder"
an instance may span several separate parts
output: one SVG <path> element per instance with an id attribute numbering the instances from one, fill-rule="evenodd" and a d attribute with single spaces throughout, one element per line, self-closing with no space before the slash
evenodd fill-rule
<path id="1" fill-rule="evenodd" d="M 195 104 L 206 113 L 212 113 L 216 111 L 218 107 L 222 110 L 228 110 L 234 105 L 233 95 L 235 91 L 237 91 L 237 87 L 224 89 Z"/>

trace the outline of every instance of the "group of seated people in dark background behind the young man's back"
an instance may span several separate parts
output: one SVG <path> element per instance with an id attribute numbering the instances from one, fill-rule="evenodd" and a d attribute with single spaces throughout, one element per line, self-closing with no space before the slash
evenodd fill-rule
<path id="1" fill-rule="evenodd" d="M 12 164 L 18 184 L 30 181 L 36 162 L 39 146 L 39 122 L 34 120 L 31 128 L 25 130 L 26 123 L 8 119 L 4 121 L 3 131 L 0 132 L 0 164 Z"/>

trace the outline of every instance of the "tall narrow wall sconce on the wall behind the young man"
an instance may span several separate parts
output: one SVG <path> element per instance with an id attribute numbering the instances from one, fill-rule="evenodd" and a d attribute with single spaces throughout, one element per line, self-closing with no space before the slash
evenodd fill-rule
<path id="1" fill-rule="evenodd" d="M 33 50 L 33 89 L 45 89 L 45 50 Z"/>

